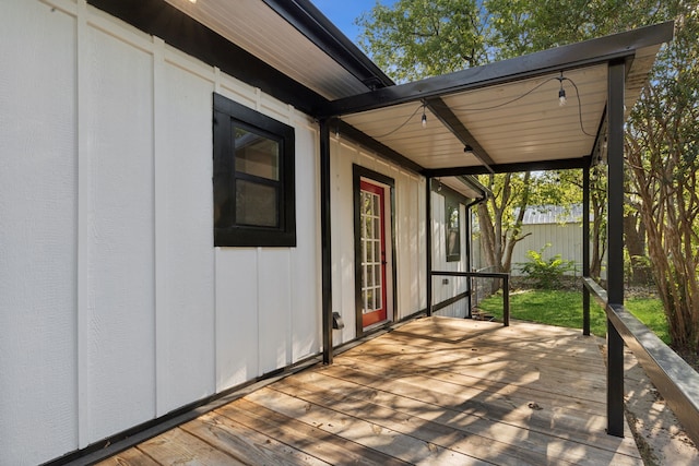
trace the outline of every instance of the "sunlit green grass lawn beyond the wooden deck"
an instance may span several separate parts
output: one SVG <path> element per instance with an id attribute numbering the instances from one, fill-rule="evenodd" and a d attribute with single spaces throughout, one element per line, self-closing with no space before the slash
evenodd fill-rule
<path id="1" fill-rule="evenodd" d="M 590 332 L 606 335 L 606 316 L 594 300 L 590 304 Z M 626 308 L 670 344 L 663 304 L 656 298 L 630 298 Z M 489 314 L 502 319 L 502 295 L 498 292 L 478 304 Z M 517 290 L 510 294 L 510 318 L 548 325 L 582 328 L 582 292 L 565 290 Z"/>

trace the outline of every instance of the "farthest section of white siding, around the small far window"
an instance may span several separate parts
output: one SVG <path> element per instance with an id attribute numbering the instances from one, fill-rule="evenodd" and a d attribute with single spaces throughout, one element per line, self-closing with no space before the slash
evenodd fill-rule
<path id="1" fill-rule="evenodd" d="M 459 206 L 459 219 L 461 222 L 461 260 L 447 262 L 447 231 L 446 231 L 446 200 L 445 196 L 431 192 L 433 202 L 433 270 L 446 272 L 467 272 L 466 262 L 466 222 L 465 206 Z M 445 280 L 447 283 L 445 283 Z M 467 290 L 469 278 L 464 277 L 433 277 L 433 304 L 438 304 L 449 298 L 453 298 Z M 469 301 L 459 300 L 435 312 L 436 315 L 450 318 L 465 318 L 469 313 Z"/>

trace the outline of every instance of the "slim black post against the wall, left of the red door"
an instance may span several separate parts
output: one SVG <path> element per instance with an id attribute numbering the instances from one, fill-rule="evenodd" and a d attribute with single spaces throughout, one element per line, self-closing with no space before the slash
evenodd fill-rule
<path id="1" fill-rule="evenodd" d="M 320 254 L 323 363 L 332 365 L 332 256 L 330 249 L 330 121 L 320 120 Z"/>

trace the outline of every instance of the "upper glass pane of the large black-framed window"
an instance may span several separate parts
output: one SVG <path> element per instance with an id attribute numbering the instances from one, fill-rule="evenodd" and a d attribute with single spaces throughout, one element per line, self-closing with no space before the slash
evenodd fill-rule
<path id="1" fill-rule="evenodd" d="M 279 181 L 280 144 L 276 141 L 244 130 L 235 129 L 236 171 Z"/>

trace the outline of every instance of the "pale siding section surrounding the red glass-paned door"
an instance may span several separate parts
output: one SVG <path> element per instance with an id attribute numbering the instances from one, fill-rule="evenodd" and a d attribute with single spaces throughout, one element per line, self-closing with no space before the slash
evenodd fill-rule
<path id="1" fill-rule="evenodd" d="M 353 165 L 359 165 L 395 182 L 395 264 L 398 319 L 418 312 L 426 301 L 425 179 L 365 151 L 342 135 L 331 138 L 332 179 L 332 309 L 345 322 L 333 332 L 333 343 L 356 336 L 355 322 L 355 242 L 353 211 Z M 389 259 L 390 263 L 390 259 Z M 389 304 L 390 307 L 390 304 Z M 389 316 L 391 310 L 389 309 Z"/>

